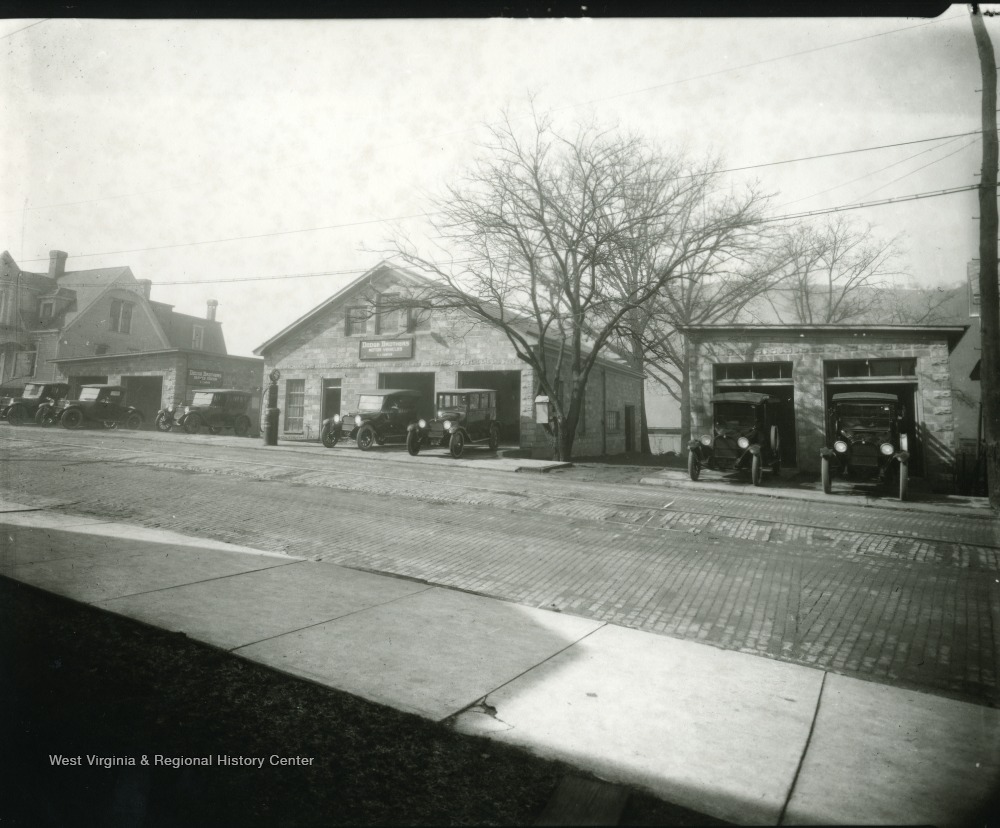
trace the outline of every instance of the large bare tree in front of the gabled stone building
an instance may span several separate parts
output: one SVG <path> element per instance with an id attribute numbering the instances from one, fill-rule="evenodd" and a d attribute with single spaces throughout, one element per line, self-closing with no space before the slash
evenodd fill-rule
<path id="1" fill-rule="evenodd" d="M 552 401 L 556 456 L 570 459 L 587 380 L 622 319 L 753 226 L 759 200 L 712 192 L 710 170 L 592 127 L 564 137 L 536 118 L 521 137 L 504 120 L 486 150 L 436 199 L 433 246 L 402 237 L 393 253 L 430 277 L 412 303 L 506 335 Z M 636 278 L 617 278 L 630 256 Z"/>

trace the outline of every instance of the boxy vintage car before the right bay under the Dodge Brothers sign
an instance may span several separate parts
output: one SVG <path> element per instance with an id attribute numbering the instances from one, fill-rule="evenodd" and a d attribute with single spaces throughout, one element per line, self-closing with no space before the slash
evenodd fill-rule
<path id="1" fill-rule="evenodd" d="M 441 446 L 452 457 L 461 457 L 466 445 L 486 445 L 496 451 L 500 444 L 496 391 L 491 388 L 460 388 L 438 391 L 437 416 L 418 420 L 406 435 L 406 450 L 414 457 L 422 448 Z"/>

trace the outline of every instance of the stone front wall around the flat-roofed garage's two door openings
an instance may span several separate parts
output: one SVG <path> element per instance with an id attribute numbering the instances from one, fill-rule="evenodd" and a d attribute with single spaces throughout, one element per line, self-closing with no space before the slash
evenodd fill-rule
<path id="1" fill-rule="evenodd" d="M 717 337 L 725 336 L 725 341 Z M 906 338 L 904 338 L 904 336 Z M 712 338 L 709 338 L 712 337 Z M 742 338 L 738 338 L 742 337 Z M 819 473 L 825 442 L 823 363 L 827 360 L 914 358 L 916 411 L 924 476 L 934 489 L 954 483 L 955 425 L 948 343 L 933 334 L 872 329 L 864 334 L 761 331 L 753 334 L 692 332 L 691 416 L 693 433 L 710 428 L 714 369 L 723 362 L 791 362 L 795 388 L 796 456 L 800 471 Z"/>

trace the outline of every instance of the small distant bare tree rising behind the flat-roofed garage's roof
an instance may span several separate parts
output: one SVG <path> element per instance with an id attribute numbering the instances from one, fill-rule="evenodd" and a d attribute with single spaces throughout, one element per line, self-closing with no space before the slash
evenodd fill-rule
<path id="1" fill-rule="evenodd" d="M 862 321 L 875 297 L 903 275 L 896 268 L 898 240 L 879 239 L 870 225 L 842 216 L 823 225 L 788 230 L 781 258 L 785 275 L 766 298 L 782 322 Z"/>

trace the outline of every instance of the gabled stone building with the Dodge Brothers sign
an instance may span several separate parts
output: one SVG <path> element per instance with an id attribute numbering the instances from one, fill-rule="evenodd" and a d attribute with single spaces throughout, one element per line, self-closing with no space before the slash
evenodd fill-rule
<path id="1" fill-rule="evenodd" d="M 552 438 L 534 418 L 539 386 L 531 367 L 502 331 L 464 312 L 418 312 L 399 302 L 393 308 L 393 297 L 421 284 L 423 277 L 383 262 L 254 350 L 264 357 L 266 374 L 281 372 L 282 438 L 319 439 L 323 420 L 349 411 L 365 390 L 417 389 L 422 413 L 433 416 L 437 391 L 492 388 L 502 442 L 551 456 Z M 527 328 L 525 334 L 537 340 Z M 638 450 L 641 386 L 642 375 L 616 355 L 599 358 L 574 454 Z"/>

